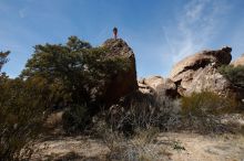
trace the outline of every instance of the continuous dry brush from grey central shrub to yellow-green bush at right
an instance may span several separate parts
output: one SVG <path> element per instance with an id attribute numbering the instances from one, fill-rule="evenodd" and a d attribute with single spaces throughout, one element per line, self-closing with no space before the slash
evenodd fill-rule
<path id="1" fill-rule="evenodd" d="M 110 149 L 106 159 L 166 160 L 170 154 L 162 154 L 155 146 L 161 131 L 194 130 L 201 133 L 218 133 L 228 130 L 216 115 L 222 111 L 222 105 L 234 106 L 228 99 L 204 92 L 181 100 L 139 94 L 133 99 L 124 99 L 109 110 L 102 110 L 93 119 L 98 133 Z M 179 142 L 173 148 L 185 149 Z"/>

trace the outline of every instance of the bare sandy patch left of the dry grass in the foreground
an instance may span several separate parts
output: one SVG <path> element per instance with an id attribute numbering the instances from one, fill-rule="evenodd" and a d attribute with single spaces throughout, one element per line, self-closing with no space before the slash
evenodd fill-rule
<path id="1" fill-rule="evenodd" d="M 102 160 L 109 149 L 101 140 L 85 137 L 50 138 L 34 146 L 35 160 Z"/>

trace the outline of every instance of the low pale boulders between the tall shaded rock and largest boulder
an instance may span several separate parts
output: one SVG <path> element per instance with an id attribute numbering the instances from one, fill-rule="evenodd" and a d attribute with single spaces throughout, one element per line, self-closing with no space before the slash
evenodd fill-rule
<path id="1" fill-rule="evenodd" d="M 161 76 L 151 76 L 139 80 L 139 89 L 144 94 L 164 95 L 171 98 L 179 96 L 174 82 Z"/>

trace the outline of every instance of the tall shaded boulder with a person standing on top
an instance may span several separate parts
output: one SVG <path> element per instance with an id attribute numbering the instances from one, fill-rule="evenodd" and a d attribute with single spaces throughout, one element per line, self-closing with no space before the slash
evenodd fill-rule
<path id="1" fill-rule="evenodd" d="M 106 92 L 104 92 L 104 100 L 112 104 L 121 97 L 138 90 L 135 57 L 132 49 L 122 39 L 109 39 L 102 46 L 109 49 L 106 56 L 121 56 L 129 62 L 129 69 L 112 76 L 106 83 Z"/>

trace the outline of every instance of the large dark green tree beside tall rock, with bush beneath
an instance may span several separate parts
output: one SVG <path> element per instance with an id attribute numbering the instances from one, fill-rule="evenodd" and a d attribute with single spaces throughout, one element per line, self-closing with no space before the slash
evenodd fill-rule
<path id="1" fill-rule="evenodd" d="M 103 103 L 112 76 L 129 67 L 124 58 L 105 56 L 108 52 L 71 36 L 67 44 L 35 45 L 21 73 L 23 80 L 37 82 L 48 109 L 68 109 L 63 127 L 69 133 L 84 128 Z"/>

